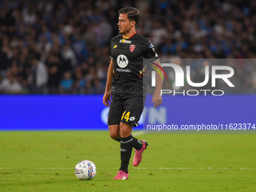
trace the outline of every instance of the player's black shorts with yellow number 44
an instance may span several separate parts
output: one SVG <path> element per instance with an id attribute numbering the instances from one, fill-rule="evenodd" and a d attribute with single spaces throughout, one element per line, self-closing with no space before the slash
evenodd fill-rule
<path id="1" fill-rule="evenodd" d="M 108 112 L 108 125 L 119 125 L 120 122 L 130 126 L 139 126 L 139 118 L 145 104 L 143 96 L 127 97 L 112 95 Z"/>

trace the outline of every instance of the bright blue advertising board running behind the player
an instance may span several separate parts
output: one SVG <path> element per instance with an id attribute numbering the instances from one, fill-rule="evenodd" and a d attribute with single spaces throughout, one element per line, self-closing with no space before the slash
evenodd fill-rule
<path id="1" fill-rule="evenodd" d="M 145 104 L 145 124 L 256 123 L 256 96 L 163 96 Z M 1 96 L 0 130 L 108 130 L 102 96 Z M 142 130 L 140 126 L 135 130 Z"/>

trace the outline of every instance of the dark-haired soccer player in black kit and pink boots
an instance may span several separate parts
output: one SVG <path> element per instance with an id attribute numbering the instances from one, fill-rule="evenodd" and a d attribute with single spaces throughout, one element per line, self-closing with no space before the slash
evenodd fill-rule
<path id="1" fill-rule="evenodd" d="M 108 79 L 102 102 L 110 106 L 108 130 L 112 139 L 120 142 L 121 165 L 114 179 L 127 179 L 128 165 L 133 148 L 133 166 L 142 161 L 142 153 L 148 142 L 132 136 L 133 126 L 138 126 L 142 114 L 147 88 L 143 86 L 143 59 L 154 59 L 160 65 L 153 44 L 136 31 L 139 10 L 122 8 L 118 11 L 117 23 L 119 35 L 111 39 L 111 62 L 108 67 Z M 152 102 L 154 108 L 162 104 L 160 90 L 162 78 L 157 74 L 156 90 Z"/>

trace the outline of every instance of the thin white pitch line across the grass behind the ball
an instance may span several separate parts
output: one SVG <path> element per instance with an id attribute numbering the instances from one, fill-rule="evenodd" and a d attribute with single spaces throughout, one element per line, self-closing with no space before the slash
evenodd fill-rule
<path id="1" fill-rule="evenodd" d="M 0 167 L 0 169 L 75 169 L 70 167 Z M 119 167 L 97 167 L 97 169 L 119 169 Z M 228 168 L 228 167 L 135 167 L 133 169 L 227 169 L 227 170 L 256 170 L 254 167 L 239 167 L 239 168 Z"/>

